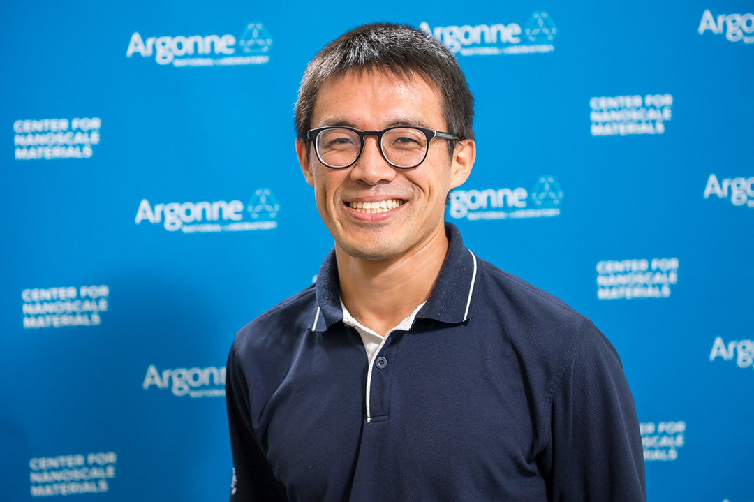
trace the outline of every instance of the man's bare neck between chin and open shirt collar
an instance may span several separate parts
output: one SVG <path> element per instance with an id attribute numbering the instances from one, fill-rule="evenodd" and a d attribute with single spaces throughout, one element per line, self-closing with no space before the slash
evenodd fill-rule
<path id="1" fill-rule="evenodd" d="M 342 302 L 359 323 L 385 336 L 429 298 L 448 244 L 444 228 L 422 246 L 390 259 L 357 259 L 336 244 Z"/>

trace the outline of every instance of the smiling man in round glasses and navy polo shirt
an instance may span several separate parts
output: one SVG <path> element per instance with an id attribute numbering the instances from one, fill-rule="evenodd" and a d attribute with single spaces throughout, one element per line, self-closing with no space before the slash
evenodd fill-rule
<path id="1" fill-rule="evenodd" d="M 231 500 L 645 500 L 615 349 L 443 222 L 471 119 L 455 58 L 408 26 L 309 63 L 296 152 L 335 248 L 235 338 Z"/>

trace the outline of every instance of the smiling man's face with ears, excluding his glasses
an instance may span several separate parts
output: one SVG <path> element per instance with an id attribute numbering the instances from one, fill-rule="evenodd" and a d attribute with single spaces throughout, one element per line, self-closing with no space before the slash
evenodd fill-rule
<path id="1" fill-rule="evenodd" d="M 311 128 L 329 125 L 360 130 L 409 125 L 446 131 L 434 85 L 376 71 L 348 72 L 325 81 L 317 92 Z M 367 136 L 356 164 L 336 170 L 317 160 L 313 145 L 297 142 L 296 150 L 336 246 L 359 259 L 405 256 L 440 234 L 444 238 L 446 194 L 466 180 L 475 154 L 474 142 L 464 140 L 451 160 L 446 140 L 434 139 L 425 161 L 403 170 L 385 162 L 376 136 Z M 382 201 L 388 207 L 380 213 L 357 207 Z"/>

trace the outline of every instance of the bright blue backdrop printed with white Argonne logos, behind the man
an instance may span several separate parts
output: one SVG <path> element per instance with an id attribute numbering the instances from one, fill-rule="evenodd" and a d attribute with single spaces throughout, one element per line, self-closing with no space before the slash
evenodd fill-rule
<path id="1" fill-rule="evenodd" d="M 618 348 L 650 500 L 754 500 L 752 11 L 4 5 L 3 500 L 228 497 L 234 333 L 333 245 L 293 148 L 298 84 L 377 20 L 458 55 L 478 158 L 446 219 Z"/>

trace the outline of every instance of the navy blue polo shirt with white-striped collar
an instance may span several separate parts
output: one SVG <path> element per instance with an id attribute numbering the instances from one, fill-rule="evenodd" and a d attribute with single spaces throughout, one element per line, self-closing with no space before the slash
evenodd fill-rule
<path id="1" fill-rule="evenodd" d="M 335 253 L 236 335 L 231 500 L 645 500 L 621 360 L 590 320 L 478 259 L 455 226 L 410 329 L 367 357 Z M 369 395 L 369 417 L 366 396 Z"/>

